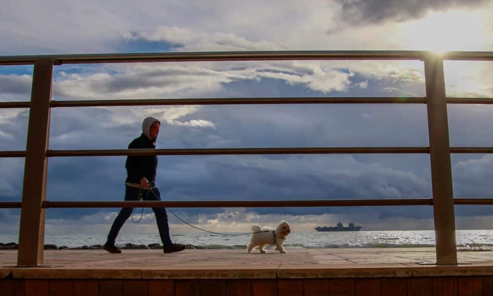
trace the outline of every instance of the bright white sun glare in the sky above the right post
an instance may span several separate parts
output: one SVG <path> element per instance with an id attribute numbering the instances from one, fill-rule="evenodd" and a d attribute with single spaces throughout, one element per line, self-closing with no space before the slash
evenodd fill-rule
<path id="1" fill-rule="evenodd" d="M 485 14 L 462 10 L 429 13 L 421 20 L 403 23 L 401 37 L 407 48 L 436 53 L 485 50 L 491 42 Z"/>

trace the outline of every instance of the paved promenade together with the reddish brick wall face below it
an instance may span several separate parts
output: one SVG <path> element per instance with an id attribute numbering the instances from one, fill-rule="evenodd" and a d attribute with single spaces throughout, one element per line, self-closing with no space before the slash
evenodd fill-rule
<path id="1" fill-rule="evenodd" d="M 458 252 L 435 262 L 434 248 L 268 250 L 46 250 L 46 265 L 15 267 L 0 251 L 5 296 L 491 296 L 493 252 Z"/>

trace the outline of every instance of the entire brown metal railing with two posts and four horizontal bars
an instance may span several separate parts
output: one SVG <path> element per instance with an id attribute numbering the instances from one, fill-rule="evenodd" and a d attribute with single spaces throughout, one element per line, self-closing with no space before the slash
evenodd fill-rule
<path id="1" fill-rule="evenodd" d="M 424 62 L 426 97 L 327 97 L 327 98 L 209 98 L 52 101 L 53 66 L 84 63 L 194 62 L 194 61 L 279 61 L 279 60 L 421 60 Z M 0 102 L 2 108 L 30 108 L 25 151 L 0 151 L 0 157 L 25 157 L 22 202 L 0 202 L 0 208 L 21 208 L 17 264 L 43 263 L 46 208 L 114 207 L 341 207 L 341 206 L 433 206 L 436 258 L 438 264 L 456 264 L 454 204 L 489 205 L 491 198 L 453 198 L 450 153 L 493 153 L 493 148 L 449 145 L 447 103 L 492 104 L 490 98 L 446 98 L 443 60 L 492 61 L 493 52 L 427 51 L 252 51 L 184 52 L 150 54 L 37 55 L 0 57 L 0 65 L 34 65 L 30 102 Z M 51 108 L 145 106 L 145 105 L 231 105 L 231 104 L 426 104 L 429 147 L 344 147 L 344 148 L 198 148 L 198 149 L 106 149 L 50 150 Z M 46 164 L 49 157 L 116 155 L 230 155 L 230 154 L 337 154 L 337 153 L 428 153 L 430 154 L 432 198 L 345 199 L 279 201 L 48 201 Z"/>

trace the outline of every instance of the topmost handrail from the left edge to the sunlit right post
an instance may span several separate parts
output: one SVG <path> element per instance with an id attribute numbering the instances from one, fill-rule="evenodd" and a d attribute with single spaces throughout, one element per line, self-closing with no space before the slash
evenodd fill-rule
<path id="1" fill-rule="evenodd" d="M 429 54 L 419 50 L 380 51 L 216 51 L 159 52 L 120 54 L 70 54 L 0 56 L 0 65 L 32 65 L 35 60 L 54 60 L 55 64 L 134 63 L 134 62 L 207 62 L 265 60 L 422 60 Z"/>

